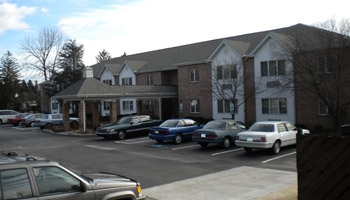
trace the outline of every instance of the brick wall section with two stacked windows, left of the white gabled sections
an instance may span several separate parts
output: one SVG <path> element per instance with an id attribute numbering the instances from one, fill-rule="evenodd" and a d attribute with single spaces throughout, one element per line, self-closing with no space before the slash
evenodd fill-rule
<path id="1" fill-rule="evenodd" d="M 189 81 L 189 69 L 199 69 L 199 82 Z M 181 66 L 178 68 L 179 103 L 183 105 L 183 113 L 180 117 L 213 117 L 211 65 L 199 64 Z M 200 103 L 199 113 L 190 113 L 190 100 L 198 99 Z"/>

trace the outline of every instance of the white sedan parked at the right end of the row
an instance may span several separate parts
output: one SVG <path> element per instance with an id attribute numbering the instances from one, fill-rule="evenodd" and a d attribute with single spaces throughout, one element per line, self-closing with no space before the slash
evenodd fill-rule
<path id="1" fill-rule="evenodd" d="M 237 134 L 236 145 L 244 147 L 246 152 L 252 149 L 271 149 L 278 154 L 281 147 L 296 144 L 298 129 L 287 121 L 266 121 L 254 123 L 248 131 Z M 302 134 L 310 131 L 302 129 Z"/>

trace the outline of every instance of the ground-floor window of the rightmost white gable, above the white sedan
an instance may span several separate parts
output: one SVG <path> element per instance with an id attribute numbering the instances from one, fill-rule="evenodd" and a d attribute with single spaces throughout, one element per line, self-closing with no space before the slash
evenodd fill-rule
<path id="1" fill-rule="evenodd" d="M 262 99 L 261 105 L 263 114 L 287 114 L 286 98 Z"/>

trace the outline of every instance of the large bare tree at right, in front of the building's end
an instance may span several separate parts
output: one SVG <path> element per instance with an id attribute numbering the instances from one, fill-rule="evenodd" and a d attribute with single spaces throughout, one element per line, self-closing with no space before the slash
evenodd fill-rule
<path id="1" fill-rule="evenodd" d="M 350 109 L 350 23 L 331 19 L 317 24 L 313 48 L 296 41 L 293 65 L 296 92 L 319 106 L 333 131 L 349 120 Z M 316 29 L 316 28 L 315 28 Z"/>

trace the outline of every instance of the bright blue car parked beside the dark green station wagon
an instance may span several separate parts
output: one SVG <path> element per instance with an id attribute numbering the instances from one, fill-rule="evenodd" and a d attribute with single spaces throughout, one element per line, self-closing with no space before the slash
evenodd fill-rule
<path id="1" fill-rule="evenodd" d="M 203 126 L 192 119 L 168 119 L 161 125 L 152 127 L 148 137 L 158 143 L 171 140 L 175 144 L 180 144 L 185 139 L 191 139 L 193 132 Z"/>

